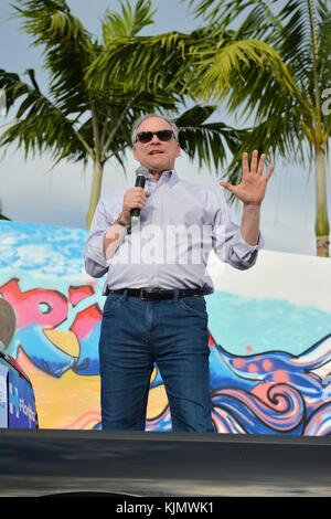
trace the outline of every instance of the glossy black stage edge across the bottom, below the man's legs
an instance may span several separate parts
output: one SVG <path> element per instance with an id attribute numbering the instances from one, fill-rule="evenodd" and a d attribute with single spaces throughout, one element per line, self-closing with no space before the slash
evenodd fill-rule
<path id="1" fill-rule="evenodd" d="M 330 497 L 331 436 L 0 430 L 0 496 Z"/>

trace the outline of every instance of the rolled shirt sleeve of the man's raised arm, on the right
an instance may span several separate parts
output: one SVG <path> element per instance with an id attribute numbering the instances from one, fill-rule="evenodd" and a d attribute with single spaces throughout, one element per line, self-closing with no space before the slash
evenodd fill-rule
<path id="1" fill-rule="evenodd" d="M 249 245 L 243 239 L 241 225 L 222 197 L 213 225 L 213 248 L 220 260 L 245 271 L 255 265 L 258 251 L 264 244 L 260 233 L 256 245 Z"/>

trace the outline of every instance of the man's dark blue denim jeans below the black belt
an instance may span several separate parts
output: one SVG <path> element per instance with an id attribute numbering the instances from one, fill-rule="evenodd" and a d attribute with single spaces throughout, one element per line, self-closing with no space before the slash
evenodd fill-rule
<path id="1" fill-rule="evenodd" d="M 99 340 L 103 428 L 145 430 L 156 362 L 172 431 L 214 432 L 209 354 L 203 297 L 147 301 L 109 294 Z"/>

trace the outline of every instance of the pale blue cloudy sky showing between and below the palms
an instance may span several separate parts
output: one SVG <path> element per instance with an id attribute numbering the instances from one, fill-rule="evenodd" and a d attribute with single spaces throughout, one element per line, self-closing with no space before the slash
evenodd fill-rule
<path id="1" fill-rule="evenodd" d="M 115 0 L 67 0 L 67 3 L 94 34 L 99 34 L 100 18 L 106 9 L 118 8 Z M 191 31 L 196 22 L 193 15 L 189 14 L 188 3 L 181 3 L 179 0 L 152 0 L 152 6 L 157 9 L 153 32 Z M 42 70 L 41 50 L 30 46 L 31 40 L 19 29 L 19 21 L 9 19 L 11 13 L 10 1 L 1 0 L 0 66 L 19 74 L 26 68 L 34 68 L 40 85 L 44 86 L 46 75 Z M 217 117 L 218 120 L 226 120 L 222 107 Z M 6 123 L 4 117 L 1 117 L 0 123 Z M 24 160 L 22 151 L 15 150 L 14 147 L 11 147 L 4 157 L 3 150 L 0 150 L 0 200 L 4 214 L 21 222 L 85 227 L 92 165 L 85 171 L 81 165 L 68 162 L 62 162 L 52 169 L 52 162 L 46 155 Z M 314 255 L 313 171 L 309 174 L 308 165 L 300 168 L 290 159 L 276 163 L 263 204 L 261 231 L 266 248 Z M 137 162 L 132 160 L 130 152 L 127 179 L 116 163 L 106 165 L 103 193 L 122 187 L 134 179 L 136 167 Z M 182 178 L 223 189 L 218 186 L 220 172 L 199 170 L 197 165 L 189 162 L 184 155 L 178 159 L 177 169 Z M 328 180 L 330 183 L 329 178 Z"/>

